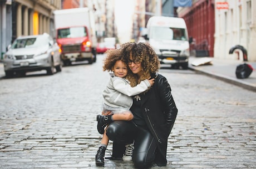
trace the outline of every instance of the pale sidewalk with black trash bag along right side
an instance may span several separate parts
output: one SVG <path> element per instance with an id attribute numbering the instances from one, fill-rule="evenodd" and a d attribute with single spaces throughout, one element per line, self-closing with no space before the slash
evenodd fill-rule
<path id="1" fill-rule="evenodd" d="M 246 62 L 253 66 L 254 70 L 250 74 L 249 78 L 246 79 L 237 79 L 235 76 L 235 69 L 237 65 L 243 64 L 240 60 L 223 60 L 216 58 L 212 59 L 211 65 L 199 65 L 193 66 L 192 63 L 195 61 L 200 61 L 203 58 L 200 57 L 190 57 L 189 58 L 189 68 L 200 73 L 204 73 L 214 78 L 224 80 L 228 83 L 240 86 L 242 88 L 256 91 L 256 62 Z M 204 58 L 205 59 L 205 58 Z"/>

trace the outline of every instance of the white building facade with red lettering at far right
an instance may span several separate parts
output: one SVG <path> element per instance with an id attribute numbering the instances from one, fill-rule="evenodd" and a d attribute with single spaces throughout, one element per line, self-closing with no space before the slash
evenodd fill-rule
<path id="1" fill-rule="evenodd" d="M 247 60 L 256 61 L 256 1 L 215 1 L 214 57 L 244 60 L 243 52 L 229 54 L 235 45 L 247 50 Z"/>

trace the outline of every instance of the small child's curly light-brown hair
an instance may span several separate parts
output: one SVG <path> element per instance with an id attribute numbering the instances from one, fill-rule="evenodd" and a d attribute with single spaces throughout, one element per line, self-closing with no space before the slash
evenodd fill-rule
<path id="1" fill-rule="evenodd" d="M 103 71 L 112 71 L 112 68 L 117 60 L 122 60 L 122 62 L 124 62 L 123 58 L 121 57 L 120 49 L 109 49 L 105 53 L 106 58 L 103 60 Z"/>

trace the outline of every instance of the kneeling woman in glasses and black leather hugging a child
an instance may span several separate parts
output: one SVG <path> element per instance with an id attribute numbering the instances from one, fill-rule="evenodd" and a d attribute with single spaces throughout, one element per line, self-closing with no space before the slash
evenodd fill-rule
<path id="1" fill-rule="evenodd" d="M 134 142 L 132 161 L 136 168 L 147 168 L 153 162 L 166 166 L 168 136 L 176 119 L 171 88 L 163 75 L 157 73 L 160 63 L 154 50 L 144 43 L 125 43 L 121 46 L 124 62 L 129 65 L 126 76 L 131 86 L 155 78 L 154 85 L 133 97 L 132 121 L 114 121 L 106 134 L 113 141 L 112 159 L 122 157 L 124 145 Z"/>

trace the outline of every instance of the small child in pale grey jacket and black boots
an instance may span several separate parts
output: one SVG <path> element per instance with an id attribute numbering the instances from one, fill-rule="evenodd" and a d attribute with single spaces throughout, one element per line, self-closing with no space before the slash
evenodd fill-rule
<path id="1" fill-rule="evenodd" d="M 154 79 L 147 79 L 141 81 L 135 87 L 131 87 L 129 82 L 125 79 L 128 73 L 127 65 L 122 61 L 121 51 L 119 49 L 107 50 L 106 58 L 104 60 L 104 71 L 112 71 L 110 73 L 110 81 L 106 89 L 103 91 L 103 114 L 111 111 L 111 115 L 97 115 L 97 129 L 100 134 L 103 134 L 101 145 L 97 151 L 95 162 L 97 166 L 104 166 L 104 156 L 109 138 L 106 135 L 105 127 L 115 120 L 132 120 L 134 116 L 129 110 L 132 105 L 132 98 L 136 94 L 140 94 L 150 88 L 154 84 Z M 130 146 L 130 147 L 129 147 Z M 129 157 L 123 157 L 124 161 L 131 160 L 131 146 L 127 145 L 130 154 Z"/>

